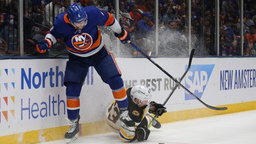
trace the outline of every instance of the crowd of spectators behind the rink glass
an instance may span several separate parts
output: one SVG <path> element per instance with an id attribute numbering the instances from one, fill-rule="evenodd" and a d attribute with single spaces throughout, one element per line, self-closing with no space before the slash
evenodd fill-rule
<path id="1" fill-rule="evenodd" d="M 18 55 L 18 5 L 17 0 L 0 0 L 0 56 Z M 133 41 L 148 55 L 155 55 L 154 0 L 120 0 L 119 12 L 114 10 L 114 0 L 74 0 L 81 6 L 96 6 L 112 15 L 119 14 L 119 22 L 132 35 Z M 220 0 L 219 55 L 241 55 L 240 32 L 243 32 L 243 55 L 256 55 L 256 2 L 244 0 L 243 30 L 240 26 L 240 6 L 236 0 Z M 69 0 L 23 1 L 24 53 L 39 55 L 35 44 L 44 38 L 52 27 L 54 18 L 65 12 Z M 188 55 L 187 0 L 159 0 L 159 50 L 158 54 Z M 195 55 L 217 55 L 215 46 L 215 1 L 191 1 L 191 46 Z M 108 33 L 103 30 L 103 33 Z M 110 39 L 112 36 L 110 36 Z M 62 42 L 57 42 L 57 52 L 67 52 Z M 127 49 L 126 49 L 127 50 Z M 54 51 L 54 48 L 53 48 Z M 141 55 L 135 50 L 127 55 Z"/>

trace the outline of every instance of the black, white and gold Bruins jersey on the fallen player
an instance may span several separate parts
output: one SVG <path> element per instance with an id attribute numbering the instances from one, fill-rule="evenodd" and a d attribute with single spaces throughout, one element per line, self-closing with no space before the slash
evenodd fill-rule
<path id="1" fill-rule="evenodd" d="M 125 126 L 119 119 L 120 113 L 117 106 L 117 102 L 113 101 L 106 110 L 105 121 L 109 129 L 115 133 L 119 133 L 120 140 L 123 142 L 131 141 L 135 136 L 135 130 L 140 125 L 140 123 L 145 121 L 147 124 L 150 123 L 151 118 L 146 116 L 148 114 L 149 106 L 138 107 L 138 105 L 132 102 L 130 97 L 132 88 L 126 89 L 126 94 L 128 98 L 128 114 L 132 120 L 135 122 L 134 127 Z"/>

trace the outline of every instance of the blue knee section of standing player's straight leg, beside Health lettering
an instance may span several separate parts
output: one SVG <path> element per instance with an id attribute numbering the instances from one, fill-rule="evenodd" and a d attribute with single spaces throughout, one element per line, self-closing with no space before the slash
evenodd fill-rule
<path id="1" fill-rule="evenodd" d="M 73 81 L 68 81 L 67 82 L 67 88 L 66 88 L 66 95 L 69 97 L 69 99 L 78 99 L 81 93 L 82 85 L 73 82 Z"/>

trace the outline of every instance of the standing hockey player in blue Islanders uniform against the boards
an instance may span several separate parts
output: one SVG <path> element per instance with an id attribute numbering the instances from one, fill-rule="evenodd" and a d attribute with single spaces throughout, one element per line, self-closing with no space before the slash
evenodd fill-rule
<path id="1" fill-rule="evenodd" d="M 97 26 L 108 26 L 122 43 L 131 39 L 116 19 L 106 11 L 100 11 L 94 6 L 82 7 L 77 3 L 68 6 L 68 11 L 59 14 L 45 39 L 39 41 L 36 49 L 45 53 L 59 38 L 69 50 L 69 61 L 66 64 L 64 85 L 66 86 L 67 114 L 70 123 L 65 133 L 66 142 L 70 143 L 78 137 L 79 132 L 79 96 L 90 66 L 94 66 L 103 82 L 109 84 L 114 99 L 121 110 L 120 119 L 128 126 L 135 126 L 129 117 L 128 100 L 114 56 L 104 45 Z"/>

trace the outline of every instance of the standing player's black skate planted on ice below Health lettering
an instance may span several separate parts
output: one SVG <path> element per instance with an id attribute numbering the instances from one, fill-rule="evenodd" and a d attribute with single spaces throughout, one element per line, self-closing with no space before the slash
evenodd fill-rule
<path id="1" fill-rule="evenodd" d="M 80 115 L 78 115 L 78 119 L 76 122 L 71 122 L 69 119 L 67 119 L 68 125 L 70 125 L 69 130 L 65 133 L 65 136 L 64 136 L 64 138 L 66 138 L 67 143 L 71 143 L 72 141 L 78 138 L 79 119 L 80 119 Z"/>

